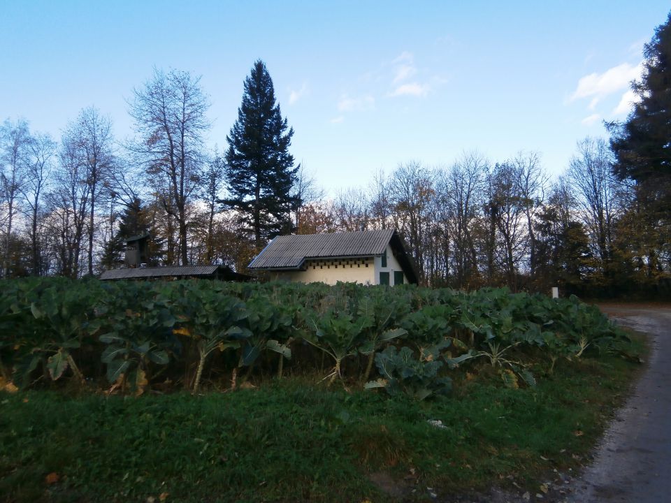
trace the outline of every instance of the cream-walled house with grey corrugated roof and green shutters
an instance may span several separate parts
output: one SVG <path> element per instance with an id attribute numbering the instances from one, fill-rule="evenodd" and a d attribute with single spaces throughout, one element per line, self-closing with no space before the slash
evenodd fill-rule
<path id="1" fill-rule="evenodd" d="M 392 229 L 277 236 L 247 266 L 289 282 L 417 284 L 419 275 Z"/>

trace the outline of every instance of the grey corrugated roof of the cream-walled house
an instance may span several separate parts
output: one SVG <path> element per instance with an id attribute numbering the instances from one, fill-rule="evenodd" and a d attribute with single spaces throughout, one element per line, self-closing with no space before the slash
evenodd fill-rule
<path id="1" fill-rule="evenodd" d="M 392 235 L 393 229 L 277 236 L 247 267 L 297 269 L 306 258 L 380 255 Z"/>

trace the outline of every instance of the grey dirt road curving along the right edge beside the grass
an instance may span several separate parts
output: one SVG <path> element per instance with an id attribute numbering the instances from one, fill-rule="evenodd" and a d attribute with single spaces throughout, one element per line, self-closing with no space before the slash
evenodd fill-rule
<path id="1" fill-rule="evenodd" d="M 649 365 L 575 481 L 575 503 L 671 501 L 671 307 L 605 305 L 617 323 L 650 335 Z"/>

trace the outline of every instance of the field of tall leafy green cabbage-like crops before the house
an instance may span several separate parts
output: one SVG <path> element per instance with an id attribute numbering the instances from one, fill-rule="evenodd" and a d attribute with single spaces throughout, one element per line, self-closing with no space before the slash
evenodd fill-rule
<path id="1" fill-rule="evenodd" d="M 577 298 L 505 289 L 59 278 L 2 282 L 0 325 L 5 388 L 136 395 L 293 374 L 423 400 L 483 369 L 535 386 L 625 337 Z"/>

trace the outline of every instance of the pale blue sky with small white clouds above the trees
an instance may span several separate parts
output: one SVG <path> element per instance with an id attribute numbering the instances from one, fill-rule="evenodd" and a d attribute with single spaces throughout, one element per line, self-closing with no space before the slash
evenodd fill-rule
<path id="1" fill-rule="evenodd" d="M 90 105 L 133 135 L 153 68 L 201 77 L 210 147 L 266 63 L 290 152 L 334 196 L 400 163 L 537 152 L 550 175 L 622 120 L 667 1 L 0 0 L 0 120 L 59 138 Z"/>

